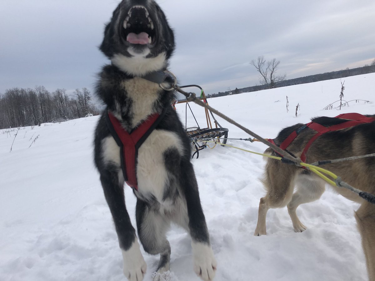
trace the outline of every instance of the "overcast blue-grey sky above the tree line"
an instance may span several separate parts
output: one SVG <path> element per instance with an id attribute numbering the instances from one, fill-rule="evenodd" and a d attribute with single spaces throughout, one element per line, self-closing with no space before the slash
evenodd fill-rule
<path id="1" fill-rule="evenodd" d="M 98 50 L 118 0 L 0 0 L 0 93 L 12 87 L 93 90 Z M 280 60 L 287 78 L 375 58 L 374 0 L 159 0 L 174 29 L 169 70 L 208 93 L 259 84 L 249 62 Z"/>

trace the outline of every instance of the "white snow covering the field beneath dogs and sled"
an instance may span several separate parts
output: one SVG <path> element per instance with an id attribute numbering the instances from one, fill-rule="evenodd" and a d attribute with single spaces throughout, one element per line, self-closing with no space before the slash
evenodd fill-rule
<path id="1" fill-rule="evenodd" d="M 344 80 L 345 100 L 364 99 L 370 103 L 350 102 L 341 112 L 336 108 L 322 110 L 339 99 L 339 79 L 208 102 L 259 135 L 274 138 L 283 127 L 307 123 L 314 116 L 374 114 L 375 74 Z M 296 117 L 298 103 L 301 107 Z M 191 106 L 204 127 L 203 109 Z M 177 105 L 177 111 L 184 122 L 185 106 Z M 187 116 L 188 127 L 194 126 L 189 112 Z M 229 138 L 249 137 L 217 119 L 229 128 Z M 111 214 L 93 164 L 97 121 L 98 117 L 88 117 L 20 128 L 16 137 L 17 129 L 0 130 L 0 280 L 125 280 Z M 266 148 L 259 142 L 228 143 L 257 152 Z M 321 200 L 297 210 L 308 227 L 305 232 L 294 232 L 286 208 L 271 209 L 268 235 L 255 237 L 259 199 L 264 194 L 259 181 L 263 158 L 216 146 L 202 150 L 192 162 L 218 262 L 215 280 L 367 279 L 353 216 L 358 204 L 329 189 Z M 124 188 L 135 226 L 135 197 L 129 187 Z M 168 239 L 172 272 L 166 280 L 199 280 L 193 273 L 187 234 L 172 226 Z M 159 258 L 146 253 L 144 257 L 148 265 L 145 280 L 151 280 Z"/>

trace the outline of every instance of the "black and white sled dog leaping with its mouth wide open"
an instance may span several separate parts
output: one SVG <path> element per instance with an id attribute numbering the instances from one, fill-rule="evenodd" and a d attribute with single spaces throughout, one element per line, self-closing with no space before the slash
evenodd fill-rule
<path id="1" fill-rule="evenodd" d="M 105 27 L 100 49 L 111 64 L 103 67 L 96 88 L 107 109 L 95 131 L 95 164 L 117 232 L 124 274 L 141 281 L 147 268 L 125 207 L 127 181 L 137 198 L 138 238 L 147 253 L 160 254 L 157 272 L 169 270 L 166 232 L 172 222 L 191 236 L 196 274 L 213 280 L 216 260 L 190 163 L 190 142 L 171 106 L 174 91 L 153 81 L 166 70 L 174 50 L 164 13 L 153 0 L 121 1 Z M 171 88 L 171 83 L 167 78 L 162 86 Z M 155 116 L 139 140 L 132 139 L 130 146 L 122 141 L 121 135 L 132 135 Z"/>

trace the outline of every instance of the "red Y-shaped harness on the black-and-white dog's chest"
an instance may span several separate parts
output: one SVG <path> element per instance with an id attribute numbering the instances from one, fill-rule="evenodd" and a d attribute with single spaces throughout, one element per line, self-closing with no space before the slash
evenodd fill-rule
<path id="1" fill-rule="evenodd" d="M 160 123 L 162 117 L 165 115 L 164 109 L 162 114 L 153 114 L 148 116 L 147 120 L 143 121 L 132 132 L 128 133 L 121 126 L 120 121 L 107 110 L 106 121 L 107 127 L 111 135 L 115 139 L 118 146 L 120 146 L 121 167 L 124 179 L 131 188 L 138 190 L 138 182 L 136 177 L 136 163 L 138 158 L 138 149 L 142 143 L 148 138 L 151 132 Z"/>

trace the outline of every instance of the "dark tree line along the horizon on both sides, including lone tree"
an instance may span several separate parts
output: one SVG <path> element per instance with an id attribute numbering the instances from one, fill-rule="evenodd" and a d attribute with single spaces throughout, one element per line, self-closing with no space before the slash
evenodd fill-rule
<path id="1" fill-rule="evenodd" d="M 255 66 L 261 74 L 262 67 L 263 69 L 268 69 L 268 73 L 275 74 L 275 70 L 277 70 L 279 63 L 280 62 L 275 59 L 265 63 L 263 56 L 258 57 L 257 61 L 252 61 L 252 65 Z M 274 80 L 269 79 L 267 81 L 268 76 L 266 71 L 261 77 L 264 82 L 262 85 L 241 89 L 236 88 L 233 91 L 218 92 L 217 94 L 207 94 L 207 98 L 344 78 L 373 72 L 375 72 L 375 60 L 371 65 L 363 67 L 354 69 L 347 68 L 345 70 L 287 80 L 284 80 L 285 75 L 274 75 L 271 76 L 271 78 L 274 77 Z M 18 87 L 7 89 L 4 94 L 0 93 L 0 129 L 37 126 L 42 123 L 57 123 L 100 114 L 100 110 L 91 102 L 91 100 L 91 93 L 87 88 L 77 88 L 72 95 L 68 95 L 65 89 L 57 89 L 50 93 L 44 86 L 36 86 L 34 89 Z"/>

